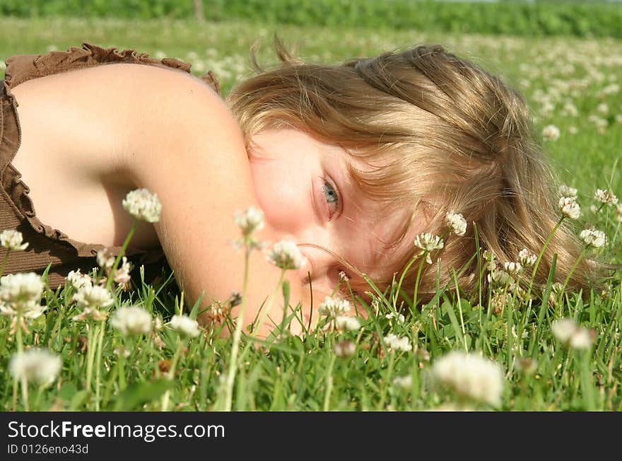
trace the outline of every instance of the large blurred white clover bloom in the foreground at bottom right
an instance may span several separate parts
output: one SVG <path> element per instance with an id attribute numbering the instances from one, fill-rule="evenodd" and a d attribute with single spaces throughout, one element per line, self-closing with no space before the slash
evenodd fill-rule
<path id="1" fill-rule="evenodd" d="M 501 403 L 503 370 L 498 363 L 477 354 L 452 351 L 438 358 L 432 366 L 435 385 L 443 385 L 456 395 L 492 407 Z"/>

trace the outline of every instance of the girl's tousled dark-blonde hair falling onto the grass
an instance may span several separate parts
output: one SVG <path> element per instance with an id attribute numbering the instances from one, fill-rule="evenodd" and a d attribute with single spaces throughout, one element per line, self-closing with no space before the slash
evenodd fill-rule
<path id="1" fill-rule="evenodd" d="M 387 210 L 410 209 L 394 243 L 421 216 L 428 232 L 445 236 L 440 286 L 451 284 L 455 271 L 460 288 L 476 288 L 475 228 L 480 249 L 502 264 L 517 261 L 523 248 L 539 254 L 561 216 L 558 183 L 516 91 L 439 45 L 317 65 L 300 62 L 275 41 L 281 65 L 242 81 L 227 98 L 247 142 L 262 129 L 294 126 L 362 158 L 372 168 L 350 168 L 360 191 Z M 464 236 L 447 233 L 447 211 L 469 223 Z M 554 254 L 554 281 L 564 281 L 581 248 L 563 223 L 544 252 L 534 292 L 546 284 Z M 419 251 L 412 246 L 397 255 L 397 272 Z M 437 267 L 424 266 L 425 301 L 435 293 Z M 417 269 L 412 264 L 404 278 L 406 293 Z M 597 266 L 583 260 L 568 288 L 586 293 L 596 276 Z M 385 288 L 391 281 L 375 282 Z"/>

